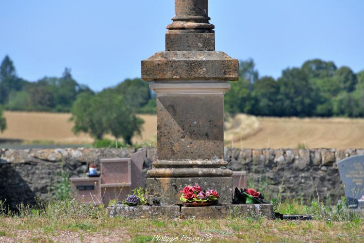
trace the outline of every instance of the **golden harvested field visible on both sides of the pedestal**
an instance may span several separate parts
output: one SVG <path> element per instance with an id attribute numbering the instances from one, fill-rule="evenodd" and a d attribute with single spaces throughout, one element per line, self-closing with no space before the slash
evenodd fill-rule
<path id="1" fill-rule="evenodd" d="M 25 142 L 52 141 L 59 144 L 92 143 L 87 134 L 72 133 L 70 114 L 43 112 L 10 112 L 4 116 L 8 128 L 0 140 Z M 157 118 L 139 115 L 144 121 L 141 137 L 134 142 L 156 141 Z M 240 114 L 227 119 L 225 145 L 237 148 L 364 148 L 364 119 L 347 118 L 266 118 Z"/>

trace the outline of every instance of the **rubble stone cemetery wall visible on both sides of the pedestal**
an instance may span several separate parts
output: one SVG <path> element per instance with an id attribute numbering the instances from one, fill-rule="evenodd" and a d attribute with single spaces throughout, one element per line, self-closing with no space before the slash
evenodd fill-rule
<path id="1" fill-rule="evenodd" d="M 143 148 L 144 179 L 156 154 L 155 148 Z M 48 200 L 65 170 L 71 176 L 85 176 L 88 163 L 101 158 L 130 157 L 134 149 L 31 149 L 0 150 L 0 200 L 15 208 L 19 202 L 35 203 L 34 197 Z M 233 171 L 247 171 L 248 186 L 266 195 L 337 199 L 342 195 L 336 161 L 364 154 L 364 149 L 225 149 L 225 160 Z M 259 185 L 259 186 L 258 186 Z M 316 192 L 317 187 L 317 192 Z"/>

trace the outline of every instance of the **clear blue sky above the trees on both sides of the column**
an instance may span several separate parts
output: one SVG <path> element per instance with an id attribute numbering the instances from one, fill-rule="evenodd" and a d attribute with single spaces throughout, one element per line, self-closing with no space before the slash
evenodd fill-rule
<path id="1" fill-rule="evenodd" d="M 305 60 L 364 69 L 363 0 L 210 0 L 216 50 L 253 58 L 260 75 Z M 0 59 L 20 77 L 65 67 L 94 90 L 140 77 L 140 61 L 164 50 L 173 0 L 0 0 Z"/>

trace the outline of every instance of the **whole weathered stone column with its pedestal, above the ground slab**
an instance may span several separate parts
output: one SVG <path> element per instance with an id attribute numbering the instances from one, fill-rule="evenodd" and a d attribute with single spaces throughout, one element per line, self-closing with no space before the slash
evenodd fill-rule
<path id="1" fill-rule="evenodd" d="M 142 78 L 157 94 L 158 160 L 148 171 L 150 202 L 181 204 L 180 190 L 198 183 L 232 203 L 232 171 L 224 161 L 226 81 L 238 79 L 238 60 L 215 52 L 208 0 L 175 0 L 165 52 L 142 61 Z"/>

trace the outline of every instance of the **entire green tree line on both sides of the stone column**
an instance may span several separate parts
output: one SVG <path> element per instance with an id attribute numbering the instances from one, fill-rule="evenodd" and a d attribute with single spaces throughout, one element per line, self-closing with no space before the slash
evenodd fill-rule
<path id="1" fill-rule="evenodd" d="M 225 110 L 257 116 L 364 117 L 364 70 L 354 73 L 333 62 L 308 60 L 287 68 L 281 77 L 260 77 L 252 59 L 240 61 L 239 81 L 225 94 Z M 112 134 L 131 143 L 141 132 L 139 113 L 156 113 L 155 95 L 147 82 L 126 79 L 95 93 L 79 84 L 65 69 L 61 77 L 29 82 L 17 76 L 13 61 L 0 65 L 0 131 L 6 128 L 5 110 L 71 112 L 74 132 L 95 139 Z"/>

